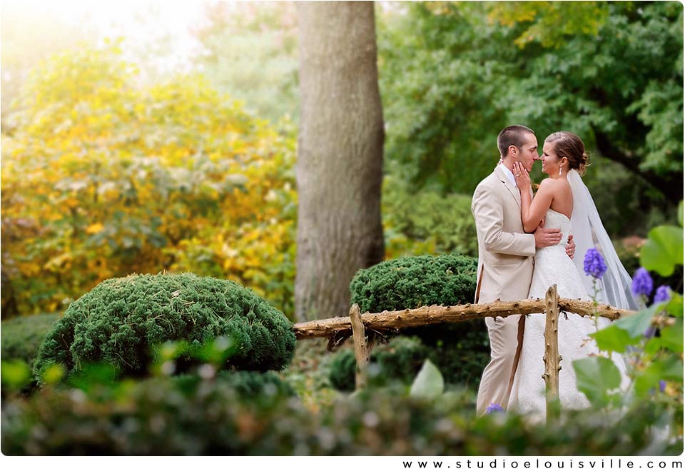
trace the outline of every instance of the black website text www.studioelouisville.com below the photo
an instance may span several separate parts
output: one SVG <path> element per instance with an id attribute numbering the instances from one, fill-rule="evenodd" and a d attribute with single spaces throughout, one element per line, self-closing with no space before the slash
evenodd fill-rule
<path id="1" fill-rule="evenodd" d="M 589 459 L 574 460 L 564 458 L 562 460 L 402 460 L 405 469 L 673 469 L 682 470 L 683 462 L 680 460 L 654 460 L 651 458 L 625 459 Z"/>

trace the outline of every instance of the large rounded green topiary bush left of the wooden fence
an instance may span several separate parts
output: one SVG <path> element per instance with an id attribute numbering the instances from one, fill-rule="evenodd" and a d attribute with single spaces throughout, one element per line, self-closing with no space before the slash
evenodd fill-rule
<path id="1" fill-rule="evenodd" d="M 120 375 L 139 375 L 158 344 L 201 346 L 218 336 L 229 336 L 233 348 L 223 368 L 281 370 L 293 358 L 292 324 L 250 289 L 192 273 L 160 273 L 103 281 L 71 303 L 41 344 L 34 373 L 40 377 L 53 364 L 71 371 L 104 362 Z"/>

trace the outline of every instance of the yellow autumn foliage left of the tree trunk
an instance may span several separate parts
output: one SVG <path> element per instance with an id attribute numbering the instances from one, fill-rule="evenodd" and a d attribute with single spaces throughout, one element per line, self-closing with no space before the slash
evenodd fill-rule
<path id="1" fill-rule="evenodd" d="M 201 76 L 137 79 L 116 44 L 60 54 L 3 131 L 2 269 L 19 311 L 61 309 L 106 278 L 192 271 L 292 316 L 294 131 Z"/>

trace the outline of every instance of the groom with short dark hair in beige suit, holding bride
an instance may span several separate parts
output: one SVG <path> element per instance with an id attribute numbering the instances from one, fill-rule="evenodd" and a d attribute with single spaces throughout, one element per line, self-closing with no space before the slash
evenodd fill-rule
<path id="1" fill-rule="evenodd" d="M 525 233 L 521 223 L 521 196 L 512 169 L 521 163 L 530 172 L 537 154 L 537 138 L 530 128 L 512 125 L 497 136 L 501 161 L 473 193 L 471 211 L 478 235 L 476 303 L 528 298 L 536 248 L 553 246 L 562 239 L 559 228 L 538 227 Z M 530 191 L 532 193 L 532 190 Z M 575 244 L 569 236 L 567 253 Z M 476 413 L 496 403 L 506 408 L 523 340 L 525 318 L 485 318 L 490 339 L 490 362 L 483 370 Z M 542 374 L 541 374 L 542 375 Z"/>

